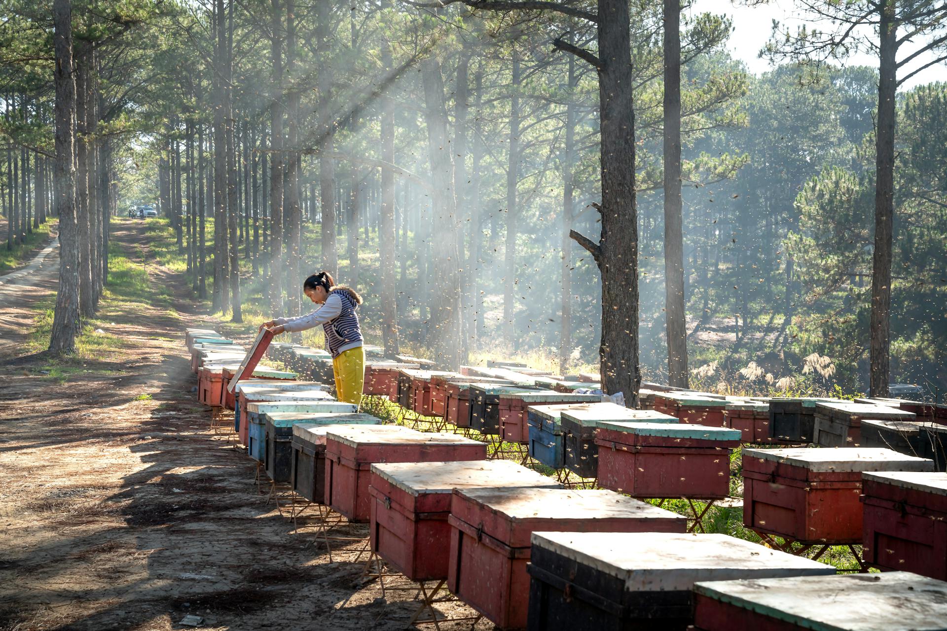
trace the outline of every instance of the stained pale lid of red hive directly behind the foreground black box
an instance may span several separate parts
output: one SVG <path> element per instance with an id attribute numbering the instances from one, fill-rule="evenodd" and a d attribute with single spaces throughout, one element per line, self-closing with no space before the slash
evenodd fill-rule
<path id="1" fill-rule="evenodd" d="M 668 518 L 681 516 L 605 489 L 472 488 L 454 491 L 510 521 L 522 519 Z"/>

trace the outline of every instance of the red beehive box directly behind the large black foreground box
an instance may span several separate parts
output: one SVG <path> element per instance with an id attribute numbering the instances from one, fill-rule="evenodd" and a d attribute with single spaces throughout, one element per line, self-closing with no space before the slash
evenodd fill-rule
<path id="1" fill-rule="evenodd" d="M 501 629 L 527 625 L 534 531 L 683 533 L 687 528 L 683 516 L 598 489 L 457 489 L 448 522 L 447 586 Z"/>

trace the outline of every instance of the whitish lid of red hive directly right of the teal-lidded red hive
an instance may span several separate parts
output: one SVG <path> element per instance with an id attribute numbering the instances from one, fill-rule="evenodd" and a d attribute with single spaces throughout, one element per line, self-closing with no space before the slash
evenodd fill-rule
<path id="1" fill-rule="evenodd" d="M 789 447 L 784 449 L 743 449 L 743 461 L 749 458 L 801 466 L 810 471 L 829 473 L 854 471 L 930 471 L 934 461 L 906 456 L 883 447 Z"/>

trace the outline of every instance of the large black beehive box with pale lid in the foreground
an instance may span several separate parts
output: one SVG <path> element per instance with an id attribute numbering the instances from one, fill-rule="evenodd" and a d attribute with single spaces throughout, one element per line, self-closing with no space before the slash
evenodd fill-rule
<path id="1" fill-rule="evenodd" d="M 699 581 L 835 573 L 734 536 L 678 533 L 533 533 L 527 570 L 529 631 L 684 631 Z"/>

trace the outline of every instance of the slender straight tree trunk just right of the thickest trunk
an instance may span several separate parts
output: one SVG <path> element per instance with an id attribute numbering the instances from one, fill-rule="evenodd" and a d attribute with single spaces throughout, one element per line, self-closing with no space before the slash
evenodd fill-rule
<path id="1" fill-rule="evenodd" d="M 664 0 L 664 277 L 668 382 L 688 387 L 681 218 L 681 0 Z"/>

